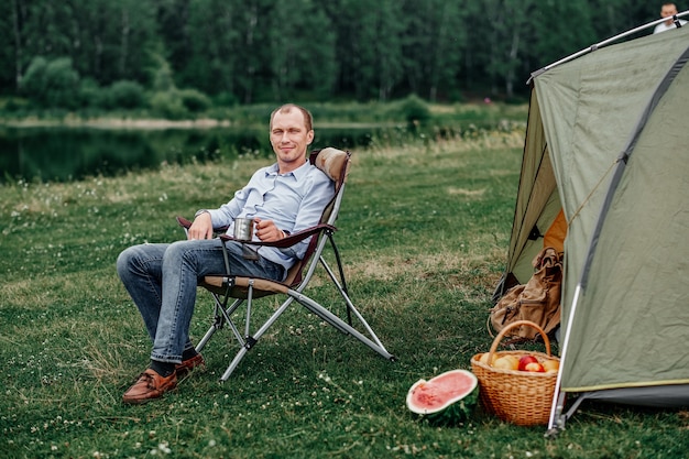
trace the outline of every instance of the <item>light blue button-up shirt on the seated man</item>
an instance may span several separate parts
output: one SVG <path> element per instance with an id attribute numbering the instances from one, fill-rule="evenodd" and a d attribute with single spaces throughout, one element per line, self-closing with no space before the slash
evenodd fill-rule
<path id="1" fill-rule="evenodd" d="M 208 212 L 214 227 L 229 225 L 228 234 L 233 233 L 238 217 L 273 220 L 281 230 L 294 233 L 318 225 L 333 195 L 332 181 L 308 161 L 287 174 L 280 174 L 275 163 L 256 171 L 229 203 Z M 255 233 L 253 240 L 259 240 Z M 297 259 L 304 258 L 307 247 L 308 239 L 287 249 L 255 245 L 254 249 L 288 270 Z"/>

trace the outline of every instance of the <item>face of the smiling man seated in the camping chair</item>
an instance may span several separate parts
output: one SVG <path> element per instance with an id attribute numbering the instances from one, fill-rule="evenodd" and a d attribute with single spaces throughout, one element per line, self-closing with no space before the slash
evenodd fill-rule
<path id="1" fill-rule="evenodd" d="M 271 144 L 283 173 L 304 164 L 306 149 L 314 141 L 314 131 L 307 131 L 304 121 L 304 114 L 297 109 L 273 116 Z"/>

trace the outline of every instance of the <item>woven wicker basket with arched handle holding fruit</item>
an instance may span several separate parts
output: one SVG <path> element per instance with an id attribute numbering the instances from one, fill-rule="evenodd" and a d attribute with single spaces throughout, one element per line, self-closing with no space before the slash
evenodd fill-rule
<path id="1" fill-rule="evenodd" d="M 522 325 L 528 325 L 538 330 L 547 353 L 526 350 L 495 352 L 505 334 Z M 503 328 L 493 340 L 489 351 L 489 362 L 492 361 L 493 354 L 495 358 L 506 354 L 515 354 L 521 358 L 529 354 L 536 357 L 542 363 L 545 360 L 559 360 L 557 357 L 550 356 L 550 340 L 546 332 L 538 325 L 528 320 L 517 320 Z M 557 372 L 535 373 L 496 369 L 480 362 L 481 356 L 482 353 L 473 356 L 471 370 L 479 379 L 479 396 L 483 409 L 489 414 L 496 415 L 502 420 L 520 426 L 547 424 L 550 417 Z"/>

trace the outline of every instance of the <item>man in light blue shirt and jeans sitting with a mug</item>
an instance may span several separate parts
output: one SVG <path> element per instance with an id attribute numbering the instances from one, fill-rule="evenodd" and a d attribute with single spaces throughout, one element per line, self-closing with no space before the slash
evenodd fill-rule
<path id="1" fill-rule="evenodd" d="M 270 139 L 276 163 L 256 171 L 229 203 L 196 212 L 186 241 L 135 245 L 118 258 L 118 274 L 153 341 L 151 363 L 124 393 L 124 403 L 157 398 L 175 389 L 178 378 L 205 365 L 189 339 L 189 323 L 197 280 L 225 272 L 222 243 L 212 239 L 214 227 L 229 225 L 232 233 L 236 218 L 251 218 L 254 240 L 275 241 L 317 225 L 332 198 L 332 182 L 307 160 L 314 140 L 308 110 L 295 105 L 275 109 Z M 258 256 L 244 256 L 242 244 L 230 242 L 227 252 L 232 274 L 282 281 L 307 245 L 254 245 Z"/>

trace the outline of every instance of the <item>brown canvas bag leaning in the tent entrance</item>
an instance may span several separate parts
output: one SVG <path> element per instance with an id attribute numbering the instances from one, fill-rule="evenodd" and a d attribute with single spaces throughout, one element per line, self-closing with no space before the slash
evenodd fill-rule
<path id="1" fill-rule="evenodd" d="M 516 285 L 491 309 L 490 323 L 496 331 L 516 320 L 531 320 L 546 334 L 560 324 L 560 293 L 562 285 L 562 255 L 554 248 L 543 249 L 532 262 L 534 274 L 526 284 Z M 517 327 L 507 332 L 523 339 L 535 339 L 533 327 Z"/>

